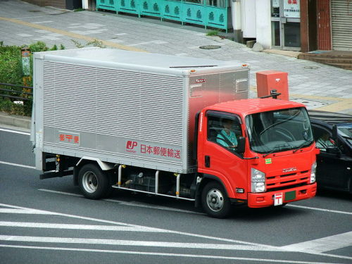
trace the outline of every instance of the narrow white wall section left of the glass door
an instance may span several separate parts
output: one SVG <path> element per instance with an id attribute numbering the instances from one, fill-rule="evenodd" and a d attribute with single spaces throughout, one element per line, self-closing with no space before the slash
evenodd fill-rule
<path id="1" fill-rule="evenodd" d="M 244 0 L 246 1 L 246 0 Z M 271 48 L 270 0 L 256 1 L 256 38 L 264 49 Z"/>

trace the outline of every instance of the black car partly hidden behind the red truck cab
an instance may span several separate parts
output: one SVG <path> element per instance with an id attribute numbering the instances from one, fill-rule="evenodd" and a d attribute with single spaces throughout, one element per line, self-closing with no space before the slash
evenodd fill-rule
<path id="1" fill-rule="evenodd" d="M 320 149 L 316 172 L 318 187 L 352 194 L 352 115 L 324 111 L 309 111 L 309 115 Z"/>

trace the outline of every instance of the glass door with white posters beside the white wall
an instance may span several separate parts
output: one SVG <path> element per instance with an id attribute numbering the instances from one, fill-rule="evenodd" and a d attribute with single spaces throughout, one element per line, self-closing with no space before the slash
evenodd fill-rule
<path id="1" fill-rule="evenodd" d="M 272 47 L 301 49 L 299 0 L 271 0 Z"/>

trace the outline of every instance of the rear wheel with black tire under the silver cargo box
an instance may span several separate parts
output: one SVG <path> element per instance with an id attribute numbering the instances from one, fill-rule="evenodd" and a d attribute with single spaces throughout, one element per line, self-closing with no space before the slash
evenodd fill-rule
<path id="1" fill-rule="evenodd" d="M 108 195 L 111 188 L 108 174 L 94 164 L 82 166 L 78 173 L 78 185 L 88 199 L 101 199 Z"/>

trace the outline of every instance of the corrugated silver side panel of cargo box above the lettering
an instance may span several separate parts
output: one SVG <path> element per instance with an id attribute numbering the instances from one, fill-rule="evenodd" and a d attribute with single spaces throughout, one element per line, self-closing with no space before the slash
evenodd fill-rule
<path id="1" fill-rule="evenodd" d="M 182 76 L 46 61 L 44 127 L 182 145 L 182 87 Z"/>

